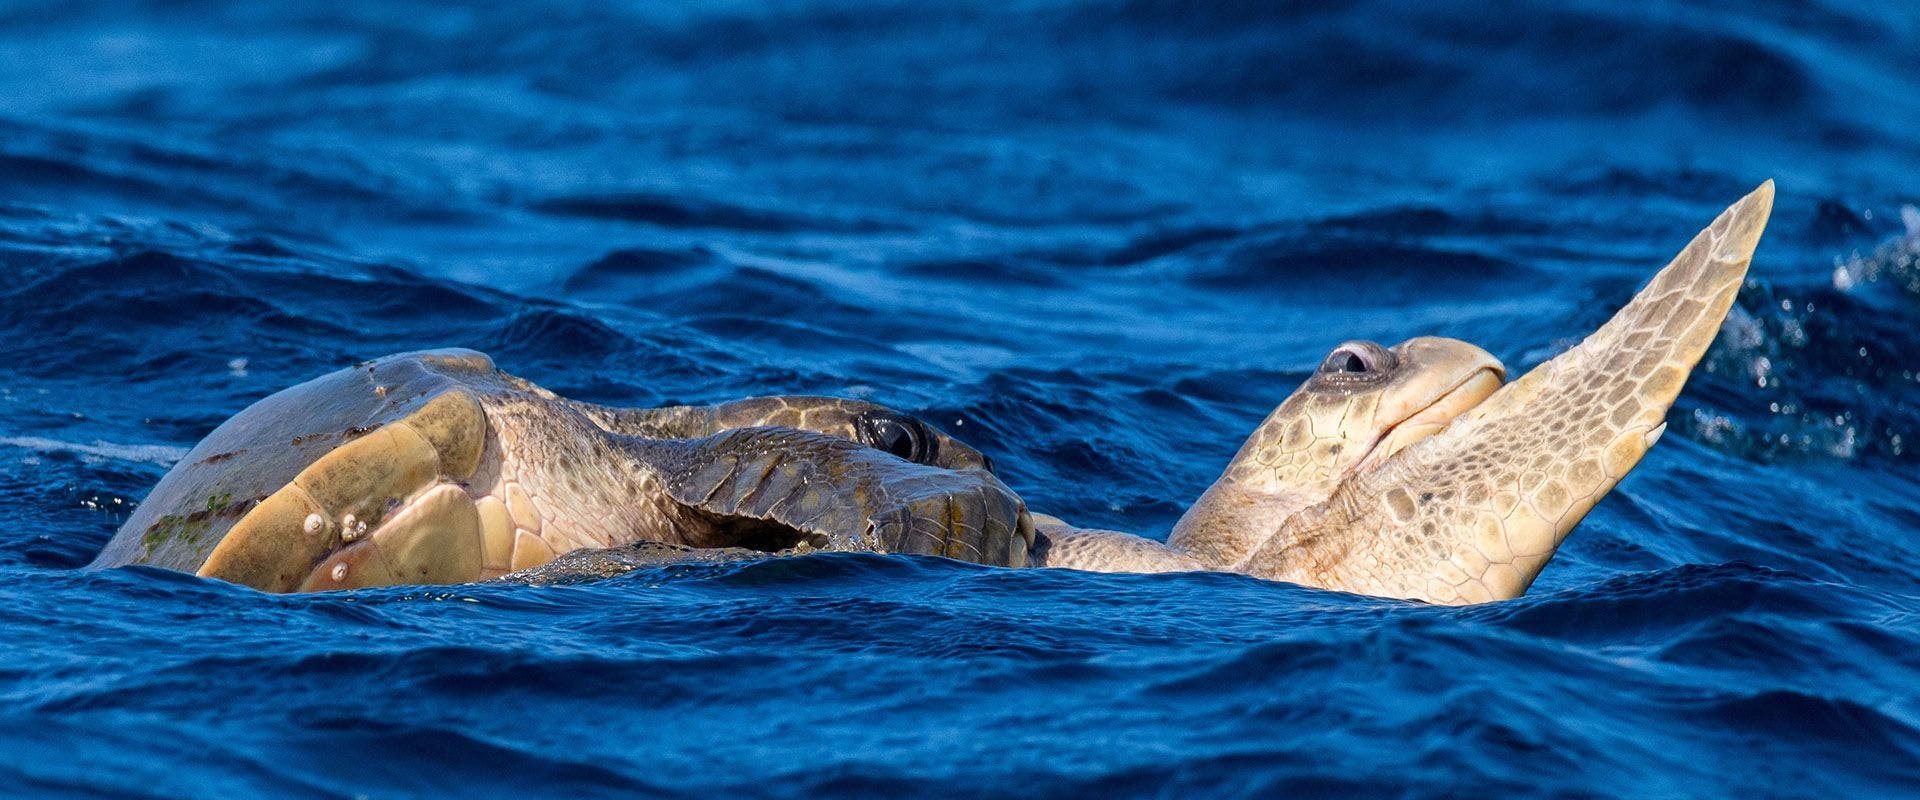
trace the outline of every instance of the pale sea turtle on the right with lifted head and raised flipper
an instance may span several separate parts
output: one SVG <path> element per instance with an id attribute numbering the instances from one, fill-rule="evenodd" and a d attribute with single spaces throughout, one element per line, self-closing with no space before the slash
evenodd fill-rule
<path id="1" fill-rule="evenodd" d="M 1607 324 L 1513 384 L 1500 384 L 1500 361 L 1459 340 L 1344 343 L 1261 422 L 1165 543 L 1035 514 L 1027 562 L 1242 572 L 1444 604 L 1519 597 L 1667 430 L 1772 200 L 1768 180 Z M 672 556 L 582 551 L 520 577 L 607 576 Z"/>

